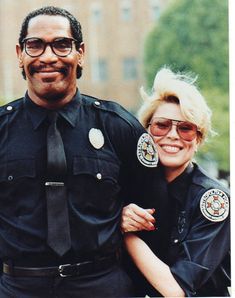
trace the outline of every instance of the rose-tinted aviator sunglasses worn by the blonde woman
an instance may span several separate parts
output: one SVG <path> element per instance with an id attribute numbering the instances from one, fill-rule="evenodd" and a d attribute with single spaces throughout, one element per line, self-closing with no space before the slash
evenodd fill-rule
<path id="1" fill-rule="evenodd" d="M 179 121 L 161 117 L 154 117 L 149 123 L 150 133 L 154 137 L 162 137 L 168 134 L 172 126 L 176 126 L 178 135 L 185 141 L 192 141 L 196 138 L 197 126 L 188 121 Z"/>

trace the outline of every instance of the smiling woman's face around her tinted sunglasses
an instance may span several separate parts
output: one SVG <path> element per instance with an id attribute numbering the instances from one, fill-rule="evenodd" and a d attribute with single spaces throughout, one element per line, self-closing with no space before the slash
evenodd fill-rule
<path id="1" fill-rule="evenodd" d="M 161 104 L 156 109 L 152 119 L 156 117 L 187 121 L 176 103 Z M 150 129 L 149 132 L 151 133 Z M 176 125 L 173 124 L 166 135 L 153 136 L 153 139 L 157 145 L 159 159 L 165 167 L 166 178 L 168 181 L 172 181 L 185 170 L 193 158 L 198 146 L 197 137 L 192 141 L 182 139 L 176 130 Z"/>

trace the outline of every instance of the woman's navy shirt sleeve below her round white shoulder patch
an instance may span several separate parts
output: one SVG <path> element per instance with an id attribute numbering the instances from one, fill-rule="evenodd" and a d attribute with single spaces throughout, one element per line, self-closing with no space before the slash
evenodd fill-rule
<path id="1" fill-rule="evenodd" d="M 230 247 L 229 216 L 220 222 L 205 218 L 198 206 L 186 238 L 179 243 L 176 262 L 171 272 L 186 296 L 195 296 L 214 274 Z"/>

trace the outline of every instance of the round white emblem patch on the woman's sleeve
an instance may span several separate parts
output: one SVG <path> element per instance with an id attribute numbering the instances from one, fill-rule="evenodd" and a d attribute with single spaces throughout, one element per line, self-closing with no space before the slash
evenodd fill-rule
<path id="1" fill-rule="evenodd" d="M 228 196 L 220 189 L 210 189 L 201 197 L 200 209 L 210 221 L 223 221 L 229 214 Z"/>

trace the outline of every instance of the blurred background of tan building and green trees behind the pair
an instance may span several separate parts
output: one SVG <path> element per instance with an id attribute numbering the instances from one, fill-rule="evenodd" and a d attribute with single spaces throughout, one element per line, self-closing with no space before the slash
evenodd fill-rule
<path id="1" fill-rule="evenodd" d="M 135 114 L 139 88 L 150 92 L 163 65 L 198 75 L 217 135 L 201 148 L 197 161 L 229 185 L 227 0 L 0 0 L 1 105 L 26 91 L 15 44 L 23 18 L 46 5 L 63 7 L 81 22 L 82 93 L 117 101 Z"/>

